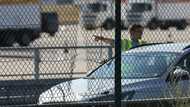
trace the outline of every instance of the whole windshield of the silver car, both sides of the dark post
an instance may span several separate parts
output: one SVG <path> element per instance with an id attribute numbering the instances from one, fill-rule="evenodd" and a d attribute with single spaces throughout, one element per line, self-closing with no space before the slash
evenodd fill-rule
<path id="1" fill-rule="evenodd" d="M 160 76 L 172 62 L 177 53 L 140 52 L 122 55 L 122 78 L 153 78 Z M 90 75 L 89 78 L 114 78 L 114 59 L 108 61 Z"/>

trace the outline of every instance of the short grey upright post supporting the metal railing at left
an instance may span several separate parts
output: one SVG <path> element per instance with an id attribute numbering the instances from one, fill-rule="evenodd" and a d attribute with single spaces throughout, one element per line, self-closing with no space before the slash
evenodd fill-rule
<path id="1" fill-rule="evenodd" d="M 34 49 L 34 79 L 38 80 L 39 79 L 39 64 L 40 64 L 40 51 L 39 49 L 35 48 Z"/>

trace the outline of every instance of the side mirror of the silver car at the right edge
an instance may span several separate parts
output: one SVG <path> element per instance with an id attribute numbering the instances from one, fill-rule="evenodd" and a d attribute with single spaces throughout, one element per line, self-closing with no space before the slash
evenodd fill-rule
<path id="1" fill-rule="evenodd" d="M 177 66 L 174 72 L 172 72 L 170 76 L 170 81 L 171 82 L 179 82 L 181 80 L 189 80 L 190 79 L 190 74 L 187 70 Z"/>

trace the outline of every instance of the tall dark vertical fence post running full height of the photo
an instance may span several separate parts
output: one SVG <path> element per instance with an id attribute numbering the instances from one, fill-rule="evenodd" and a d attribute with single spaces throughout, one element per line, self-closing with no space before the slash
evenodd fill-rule
<path id="1" fill-rule="evenodd" d="M 115 107 L 121 107 L 121 0 L 115 0 Z"/>

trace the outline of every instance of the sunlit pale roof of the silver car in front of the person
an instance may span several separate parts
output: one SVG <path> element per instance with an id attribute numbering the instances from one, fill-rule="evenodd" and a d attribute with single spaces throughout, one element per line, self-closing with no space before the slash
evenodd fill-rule
<path id="1" fill-rule="evenodd" d="M 134 52 L 176 52 L 182 53 L 185 49 L 190 48 L 190 43 L 163 43 L 154 45 L 145 45 L 130 49 L 125 53 Z"/>

